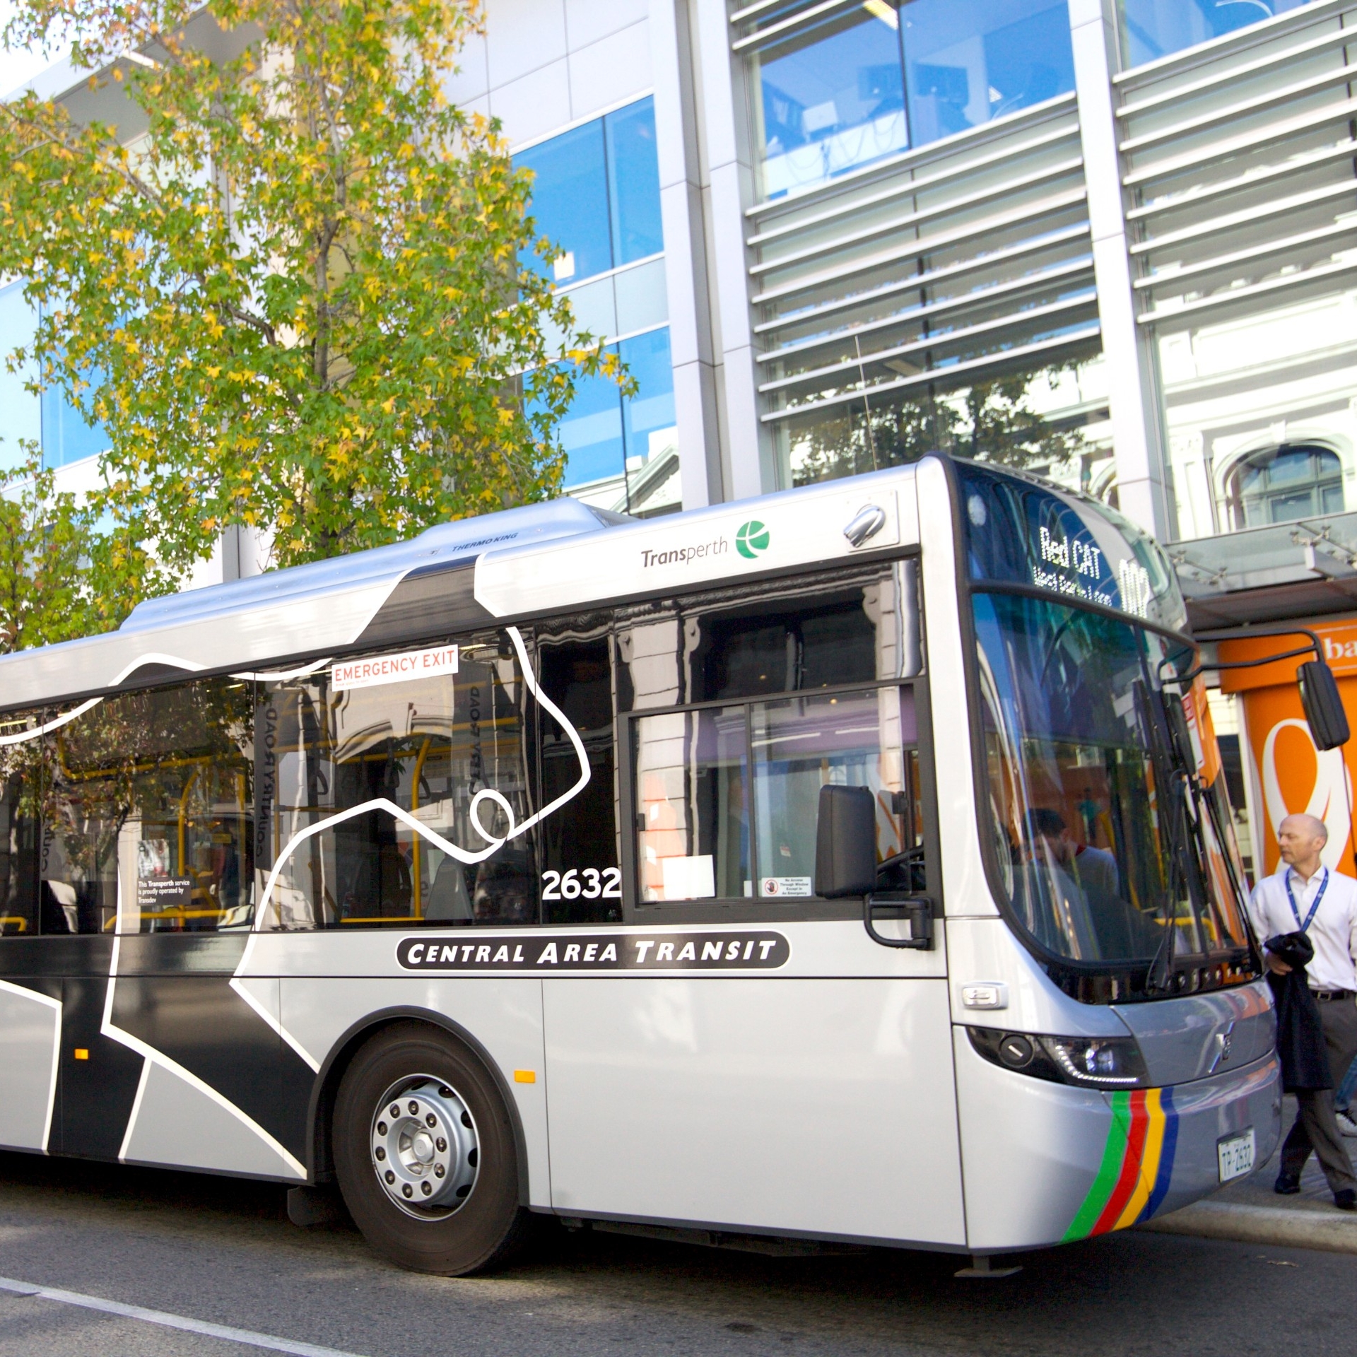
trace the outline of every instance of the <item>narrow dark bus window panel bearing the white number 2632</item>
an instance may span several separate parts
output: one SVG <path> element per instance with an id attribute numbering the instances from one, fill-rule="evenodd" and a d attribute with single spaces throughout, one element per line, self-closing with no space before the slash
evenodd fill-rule
<path id="1" fill-rule="evenodd" d="M 611 647 L 607 632 L 537 636 L 541 691 L 574 727 L 589 760 L 588 784 L 541 824 L 541 921 L 548 924 L 622 919 Z M 540 803 L 547 806 L 579 780 L 579 756 L 544 707 L 537 731 Z"/>

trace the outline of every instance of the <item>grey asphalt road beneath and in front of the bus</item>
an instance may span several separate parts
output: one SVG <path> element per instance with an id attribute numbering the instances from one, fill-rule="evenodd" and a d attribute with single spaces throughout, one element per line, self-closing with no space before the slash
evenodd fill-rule
<path id="1" fill-rule="evenodd" d="M 554 1229 L 498 1276 L 448 1280 L 399 1272 L 349 1225 L 297 1229 L 280 1187 L 0 1155 L 0 1277 L 361 1357 L 1352 1350 L 1357 1257 L 1130 1232 L 1020 1261 L 958 1281 L 942 1255 Z M 0 1357 L 265 1350 L 0 1291 Z"/>

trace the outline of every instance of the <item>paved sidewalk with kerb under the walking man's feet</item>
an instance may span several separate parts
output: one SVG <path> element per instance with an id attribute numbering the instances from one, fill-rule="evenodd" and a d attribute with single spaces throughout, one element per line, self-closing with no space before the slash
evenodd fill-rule
<path id="1" fill-rule="evenodd" d="M 1282 1103 L 1282 1134 L 1296 1120 L 1296 1099 Z M 1357 1168 L 1357 1140 L 1345 1140 L 1349 1158 Z M 1292 1248 L 1327 1248 L 1357 1254 L 1357 1212 L 1338 1210 L 1333 1193 L 1311 1155 L 1300 1178 L 1300 1193 L 1278 1197 L 1277 1181 L 1281 1147 L 1277 1153 L 1247 1178 L 1221 1187 L 1204 1201 L 1175 1210 L 1171 1216 L 1139 1227 L 1168 1235 L 1198 1235 L 1209 1239 L 1235 1239 L 1243 1243 L 1286 1244 Z"/>

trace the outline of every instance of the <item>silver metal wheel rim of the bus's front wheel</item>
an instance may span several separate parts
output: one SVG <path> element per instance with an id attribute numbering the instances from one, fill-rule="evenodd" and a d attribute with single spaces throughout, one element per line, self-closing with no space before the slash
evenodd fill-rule
<path id="1" fill-rule="evenodd" d="M 407 1216 L 441 1220 L 476 1185 L 480 1139 L 471 1109 L 433 1075 L 399 1079 L 383 1095 L 368 1136 L 372 1171 Z"/>

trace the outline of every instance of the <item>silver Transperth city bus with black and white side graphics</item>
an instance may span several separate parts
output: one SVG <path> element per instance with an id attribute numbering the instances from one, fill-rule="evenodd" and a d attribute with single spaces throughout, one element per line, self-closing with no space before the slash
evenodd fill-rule
<path id="1" fill-rule="evenodd" d="M 1174 1210 L 1281 1096 L 1183 627 L 1115 513 L 927 457 L 9 655 L 0 1145 L 337 1182 L 438 1273 Z"/>

